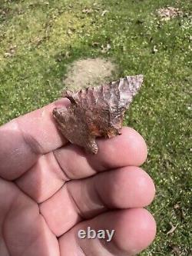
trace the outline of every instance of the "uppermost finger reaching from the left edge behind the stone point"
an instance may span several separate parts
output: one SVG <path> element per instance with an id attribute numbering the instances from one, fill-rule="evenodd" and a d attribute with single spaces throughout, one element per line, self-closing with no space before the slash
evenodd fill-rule
<path id="1" fill-rule="evenodd" d="M 68 105 L 68 99 L 55 101 L 0 127 L 0 177 L 18 178 L 35 164 L 39 155 L 66 144 L 52 117 L 53 108 L 61 105 Z"/>

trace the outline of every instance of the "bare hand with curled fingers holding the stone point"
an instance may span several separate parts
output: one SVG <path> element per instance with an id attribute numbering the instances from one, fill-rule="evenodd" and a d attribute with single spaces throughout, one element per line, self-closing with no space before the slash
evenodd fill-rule
<path id="1" fill-rule="evenodd" d="M 4 256 L 134 255 L 154 240 L 144 209 L 154 183 L 139 168 L 144 139 L 132 128 L 98 139 L 98 154 L 68 144 L 52 109 L 66 98 L 0 128 L 0 254 Z M 78 230 L 114 229 L 111 242 L 79 239 Z"/>

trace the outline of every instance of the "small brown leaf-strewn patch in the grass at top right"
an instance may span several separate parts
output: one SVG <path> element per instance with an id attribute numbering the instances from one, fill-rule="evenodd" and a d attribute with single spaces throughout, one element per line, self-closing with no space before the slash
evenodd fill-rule
<path id="1" fill-rule="evenodd" d="M 181 12 L 178 8 L 168 6 L 166 8 L 159 8 L 157 10 L 157 15 L 160 16 L 162 21 L 169 21 L 171 18 L 183 15 L 183 12 Z"/>

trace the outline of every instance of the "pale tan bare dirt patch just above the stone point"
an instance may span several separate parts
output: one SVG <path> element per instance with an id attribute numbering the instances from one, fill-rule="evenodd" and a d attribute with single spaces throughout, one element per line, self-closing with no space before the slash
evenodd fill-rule
<path id="1" fill-rule="evenodd" d="M 68 68 L 67 78 L 63 82 L 69 90 L 97 86 L 110 81 L 116 70 L 116 66 L 109 60 L 83 59 Z"/>

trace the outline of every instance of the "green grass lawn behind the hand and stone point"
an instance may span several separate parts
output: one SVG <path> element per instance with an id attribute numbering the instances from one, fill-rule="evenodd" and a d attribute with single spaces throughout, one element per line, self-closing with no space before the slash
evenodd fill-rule
<path id="1" fill-rule="evenodd" d="M 155 11 L 166 5 L 184 16 L 161 22 Z M 191 11 L 190 0 L 0 0 L 0 124 L 58 98 L 66 68 L 79 58 L 112 59 L 117 78 L 144 74 L 124 121 L 147 141 L 144 168 L 157 188 L 150 207 L 157 238 L 142 256 L 192 254 Z M 170 235 L 169 222 L 177 225 Z"/>

